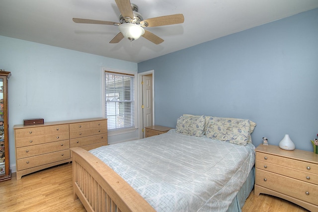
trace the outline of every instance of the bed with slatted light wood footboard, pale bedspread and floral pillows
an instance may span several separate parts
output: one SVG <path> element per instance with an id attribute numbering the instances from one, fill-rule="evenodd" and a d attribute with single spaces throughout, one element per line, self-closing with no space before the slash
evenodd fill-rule
<path id="1" fill-rule="evenodd" d="M 166 134 L 72 148 L 74 199 L 94 212 L 240 212 L 254 185 L 255 125 L 183 115 Z"/>

